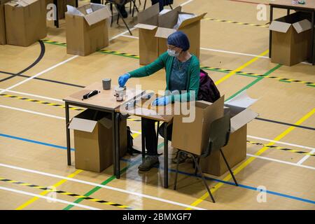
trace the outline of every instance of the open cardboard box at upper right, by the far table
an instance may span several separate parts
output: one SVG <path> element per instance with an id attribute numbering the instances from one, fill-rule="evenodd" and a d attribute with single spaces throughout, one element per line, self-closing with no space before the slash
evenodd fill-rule
<path id="1" fill-rule="evenodd" d="M 306 13 L 297 12 L 272 21 L 273 63 L 292 66 L 310 57 L 311 22 L 307 18 Z"/>

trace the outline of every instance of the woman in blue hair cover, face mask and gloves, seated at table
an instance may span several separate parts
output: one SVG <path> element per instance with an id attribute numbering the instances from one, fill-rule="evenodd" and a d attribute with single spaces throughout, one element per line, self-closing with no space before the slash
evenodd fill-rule
<path id="1" fill-rule="evenodd" d="M 120 86 L 124 86 L 129 78 L 140 78 L 150 76 L 153 73 L 165 68 L 166 71 L 166 92 L 177 92 L 177 94 L 167 94 L 153 101 L 153 106 L 163 106 L 172 104 L 175 101 L 191 101 L 197 99 L 200 85 L 200 62 L 199 59 L 188 51 L 190 43 L 186 34 L 176 31 L 167 38 L 167 52 L 164 52 L 158 59 L 139 69 L 125 73 L 118 78 Z M 182 90 L 186 90 L 183 93 Z M 193 92 L 194 91 L 194 92 Z M 147 156 L 139 166 L 139 170 L 148 171 L 154 165 L 159 164 L 157 136 L 155 132 L 155 120 L 142 118 L 144 125 L 144 136 L 146 138 Z M 165 124 L 159 128 L 162 130 Z M 172 141 L 172 125 L 167 127 L 167 139 Z M 185 153 L 182 153 L 185 154 Z M 184 162 L 186 157 L 177 158 Z M 173 161 L 175 162 L 175 161 Z"/>

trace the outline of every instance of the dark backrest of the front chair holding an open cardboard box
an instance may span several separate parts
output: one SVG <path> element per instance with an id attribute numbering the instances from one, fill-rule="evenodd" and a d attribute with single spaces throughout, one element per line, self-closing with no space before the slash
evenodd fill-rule
<path id="1" fill-rule="evenodd" d="M 230 113 L 226 113 L 222 118 L 214 120 L 210 125 L 209 145 L 207 150 L 202 153 L 202 157 L 207 157 L 210 153 L 226 146 L 230 138 L 230 130 Z"/>

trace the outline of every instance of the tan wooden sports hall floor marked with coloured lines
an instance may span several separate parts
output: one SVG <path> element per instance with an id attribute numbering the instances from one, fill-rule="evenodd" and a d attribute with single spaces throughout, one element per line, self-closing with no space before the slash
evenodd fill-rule
<path id="1" fill-rule="evenodd" d="M 124 173 L 119 180 L 113 178 L 112 167 L 98 174 L 75 169 L 73 160 L 72 166 L 67 166 L 64 109 L 29 99 L 63 105 L 63 97 L 102 78 L 112 78 L 113 84 L 117 84 L 118 76 L 139 67 L 139 60 L 102 52 L 87 57 L 67 55 L 61 44 L 66 42 L 62 20 L 59 29 L 48 22 L 46 39 L 57 43 L 44 43 L 41 61 L 22 75 L 16 74 L 40 55 L 40 43 L 28 48 L 0 45 L 0 209 L 124 209 L 111 205 L 115 203 L 132 209 L 315 209 L 315 66 L 301 63 L 288 67 L 269 62 L 266 52 L 269 30 L 265 27 L 269 18 L 256 19 L 257 3 L 269 1 L 251 1 L 174 1 L 174 6 L 183 4 L 186 12 L 207 12 L 207 18 L 216 19 L 202 20 L 200 59 L 202 66 L 213 68 L 209 73 L 219 83 L 218 89 L 225 99 L 241 90 L 259 99 L 251 109 L 262 120 L 253 120 L 247 133 L 248 141 L 258 145 L 248 143 L 246 160 L 233 168 L 239 187 L 232 184 L 228 173 L 207 175 L 216 198 L 214 204 L 201 180 L 190 176 L 193 169 L 187 163 L 181 165 L 178 190 L 172 190 L 174 165 L 170 167 L 169 189 L 162 188 L 162 156 L 160 167 L 148 173 L 138 172 L 140 156 L 126 156 L 121 162 Z M 83 3 L 80 1 L 80 5 Z M 269 6 L 266 7 L 269 15 Z M 276 10 L 275 17 L 285 13 Z M 127 22 L 133 27 L 137 17 L 129 16 Z M 139 55 L 138 32 L 132 31 L 134 36 L 127 33 L 123 21 L 119 26 L 114 22 L 111 43 L 106 49 Z M 235 69 L 242 72 L 235 73 Z M 259 78 L 258 74 L 269 77 Z M 136 84 L 163 90 L 165 74 L 160 71 L 150 78 L 131 79 L 127 83 L 130 87 Z M 77 113 L 71 111 L 71 116 Z M 135 146 L 140 148 L 140 123 L 130 120 L 128 125 L 134 131 Z M 162 139 L 159 145 L 162 151 L 161 143 Z M 169 152 L 172 154 L 172 150 Z M 55 187 L 66 193 L 55 194 L 14 181 L 43 189 Z M 260 194 L 258 189 L 265 190 Z M 80 200 L 67 193 L 113 203 Z M 51 201 L 54 199 L 57 202 Z"/>

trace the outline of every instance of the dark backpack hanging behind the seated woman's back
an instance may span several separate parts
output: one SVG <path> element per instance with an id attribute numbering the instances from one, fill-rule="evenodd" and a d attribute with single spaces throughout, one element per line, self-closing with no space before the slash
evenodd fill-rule
<path id="1" fill-rule="evenodd" d="M 221 95 L 208 73 L 200 69 L 200 85 L 198 90 L 198 100 L 204 100 L 210 103 L 214 103 L 217 99 L 220 99 Z"/>

